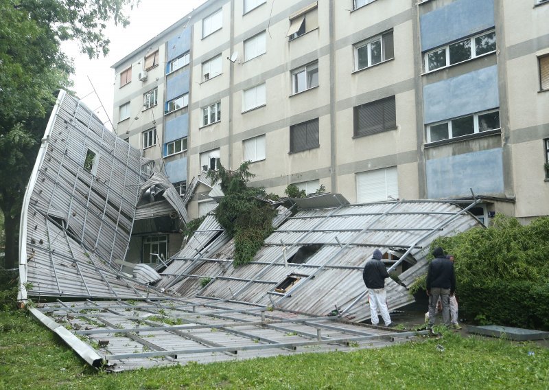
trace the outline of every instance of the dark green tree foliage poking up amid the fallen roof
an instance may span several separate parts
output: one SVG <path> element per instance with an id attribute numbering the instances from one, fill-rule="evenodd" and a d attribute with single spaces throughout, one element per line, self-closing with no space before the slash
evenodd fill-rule
<path id="1" fill-rule="evenodd" d="M 249 172 L 249 161 L 237 170 L 210 170 L 207 176 L 220 182 L 224 196 L 215 209 L 215 218 L 231 237 L 235 238 L 235 266 L 253 260 L 261 244 L 272 233 L 272 218 L 276 211 L 263 198 L 262 187 L 248 187 L 246 183 L 255 176 Z"/>

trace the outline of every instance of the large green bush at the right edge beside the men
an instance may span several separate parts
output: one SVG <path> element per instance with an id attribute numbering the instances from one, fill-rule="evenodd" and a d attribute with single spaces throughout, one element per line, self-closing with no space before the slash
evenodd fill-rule
<path id="1" fill-rule="evenodd" d="M 520 225 L 498 214 L 487 229 L 437 238 L 455 257 L 460 312 L 483 322 L 549 329 L 549 217 Z"/>

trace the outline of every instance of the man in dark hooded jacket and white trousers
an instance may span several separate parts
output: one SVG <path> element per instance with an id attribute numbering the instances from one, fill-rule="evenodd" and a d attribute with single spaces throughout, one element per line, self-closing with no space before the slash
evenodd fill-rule
<path id="1" fill-rule="evenodd" d="M 390 321 L 389 310 L 386 303 L 385 292 L 385 279 L 389 277 L 385 264 L 382 263 L 382 253 L 379 249 L 373 251 L 371 260 L 366 262 L 364 266 L 364 272 L 362 273 L 362 279 L 364 284 L 368 288 L 368 294 L 370 297 L 370 313 L 372 317 L 372 325 L 379 323 L 379 317 L 377 317 L 377 308 L 382 314 L 385 326 L 391 327 L 395 324 Z"/>

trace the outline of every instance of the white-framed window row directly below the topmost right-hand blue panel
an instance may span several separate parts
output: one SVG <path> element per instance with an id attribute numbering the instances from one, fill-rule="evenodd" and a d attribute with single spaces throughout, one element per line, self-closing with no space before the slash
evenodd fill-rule
<path id="1" fill-rule="evenodd" d="M 425 54 L 426 71 L 458 64 L 495 51 L 495 32 L 486 32 Z"/>

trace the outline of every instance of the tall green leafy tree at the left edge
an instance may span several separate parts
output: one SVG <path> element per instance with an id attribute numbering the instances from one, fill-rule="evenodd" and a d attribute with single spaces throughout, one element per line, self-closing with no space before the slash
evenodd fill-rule
<path id="1" fill-rule="evenodd" d="M 69 89 L 73 62 L 60 49 L 75 40 L 90 58 L 108 53 L 106 22 L 127 25 L 122 9 L 139 0 L 0 0 L 0 209 L 5 266 L 18 256 L 21 203 L 55 102 Z"/>

